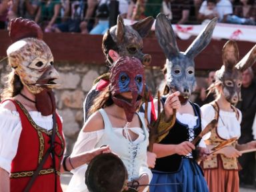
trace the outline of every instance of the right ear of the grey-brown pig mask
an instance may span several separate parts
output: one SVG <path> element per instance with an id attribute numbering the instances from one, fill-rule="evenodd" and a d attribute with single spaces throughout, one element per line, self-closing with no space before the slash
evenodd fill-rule
<path id="1" fill-rule="evenodd" d="M 147 17 L 137 23 L 134 23 L 131 27 L 133 27 L 133 29 L 136 30 L 142 38 L 144 38 L 149 34 L 154 21 L 155 19 L 153 17 Z"/>

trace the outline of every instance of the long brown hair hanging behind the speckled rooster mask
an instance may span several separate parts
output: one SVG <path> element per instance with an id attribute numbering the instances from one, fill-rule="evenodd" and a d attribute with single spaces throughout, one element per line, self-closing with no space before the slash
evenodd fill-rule
<path id="1" fill-rule="evenodd" d="M 19 75 L 15 73 L 15 71 L 11 71 L 7 75 L 7 85 L 5 85 L 5 88 L 3 89 L 3 93 L 1 94 L 1 99 L 7 99 L 11 97 L 15 97 L 19 93 L 21 93 L 21 90 L 23 89 L 23 84 L 21 83 L 21 79 L 19 78 Z"/>

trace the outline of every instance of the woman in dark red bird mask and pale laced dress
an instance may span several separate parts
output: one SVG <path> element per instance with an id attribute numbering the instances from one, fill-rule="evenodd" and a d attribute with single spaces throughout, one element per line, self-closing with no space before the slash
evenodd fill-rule
<path id="1" fill-rule="evenodd" d="M 149 133 L 143 115 L 137 113 L 145 90 L 141 61 L 135 57 L 120 57 L 111 67 L 109 82 L 95 99 L 71 157 L 81 151 L 109 145 L 123 161 L 128 181 L 148 184 L 152 177 L 147 165 Z M 74 175 L 67 191 L 88 191 L 86 169 L 87 165 L 72 171 Z M 138 188 L 138 191 L 145 190 L 145 186 Z"/>

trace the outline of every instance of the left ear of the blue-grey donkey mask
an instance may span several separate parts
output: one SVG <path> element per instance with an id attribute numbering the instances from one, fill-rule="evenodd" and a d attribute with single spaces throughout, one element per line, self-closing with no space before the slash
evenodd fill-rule
<path id="1" fill-rule="evenodd" d="M 165 57 L 171 59 L 179 55 L 179 48 L 177 46 L 175 33 L 173 27 L 171 27 L 171 21 L 163 13 L 157 15 L 157 21 L 155 22 L 155 35 Z"/>

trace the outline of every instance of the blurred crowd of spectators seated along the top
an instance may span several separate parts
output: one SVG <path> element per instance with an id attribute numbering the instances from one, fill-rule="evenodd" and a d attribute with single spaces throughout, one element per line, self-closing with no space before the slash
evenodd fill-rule
<path id="1" fill-rule="evenodd" d="M 199 24 L 218 17 L 220 23 L 255 25 L 255 0 L 0 0 L 0 29 L 11 19 L 33 19 L 45 32 L 103 34 L 114 9 L 139 20 L 165 13 L 173 24 Z"/>

